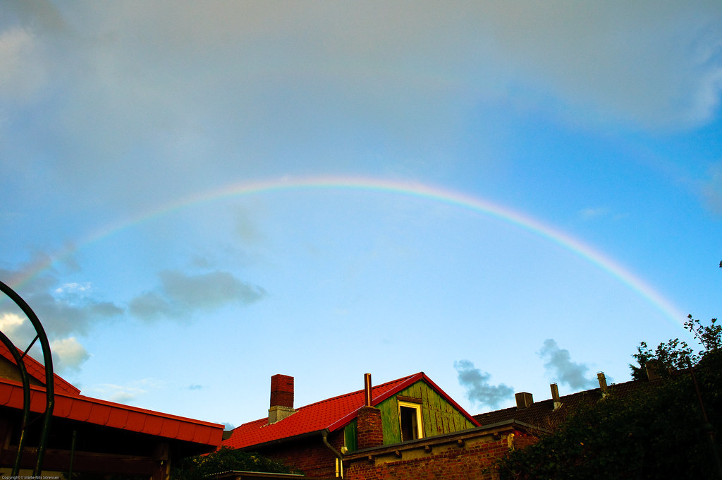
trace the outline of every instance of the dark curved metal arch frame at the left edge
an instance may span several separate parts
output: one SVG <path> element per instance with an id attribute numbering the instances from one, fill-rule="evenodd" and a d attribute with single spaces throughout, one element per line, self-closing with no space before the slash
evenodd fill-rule
<path id="1" fill-rule="evenodd" d="M 22 312 L 25 313 L 27 319 L 30 320 L 32 326 L 35 327 L 35 338 L 32 339 L 30 345 L 27 346 L 22 356 L 17 353 L 17 348 L 12 344 L 12 341 L 2 334 L 0 341 L 5 343 L 12 353 L 15 361 L 17 362 L 20 370 L 20 377 L 22 377 L 22 388 L 23 388 L 23 420 L 22 429 L 20 432 L 20 440 L 17 445 L 17 457 L 15 459 L 14 471 L 19 469 L 19 462 L 22 456 L 23 443 L 25 442 L 25 429 L 27 427 L 27 416 L 30 414 L 30 380 L 27 377 L 25 371 L 25 362 L 22 361 L 22 357 L 27 355 L 27 352 L 33 346 L 36 340 L 40 340 L 40 347 L 43 349 L 43 363 L 45 364 L 45 413 L 43 414 L 43 429 L 40 432 L 40 440 L 38 442 L 38 457 L 35 462 L 35 468 L 32 471 L 33 476 L 40 476 L 43 471 L 43 457 L 45 456 L 45 444 L 48 442 L 48 435 L 50 434 L 50 424 L 53 419 L 53 408 L 55 407 L 55 376 L 53 374 L 53 356 L 50 351 L 50 343 L 48 342 L 48 335 L 45 335 L 45 329 L 38 319 L 38 315 L 32 311 L 30 305 L 22 299 L 15 291 L 7 286 L 5 283 L 0 281 L 0 291 L 10 297 L 12 301 L 17 304 Z M 17 475 L 17 473 L 13 473 Z"/>

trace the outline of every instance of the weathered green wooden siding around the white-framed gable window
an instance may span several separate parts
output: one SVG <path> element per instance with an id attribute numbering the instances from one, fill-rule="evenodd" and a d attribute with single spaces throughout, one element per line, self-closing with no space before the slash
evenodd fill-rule
<path id="1" fill-rule="evenodd" d="M 399 398 L 401 397 L 401 398 Z M 401 442 L 401 424 L 399 422 L 399 400 L 406 398 L 421 400 L 422 428 L 424 437 L 432 437 L 474 427 L 463 413 L 436 393 L 426 382 L 419 380 L 397 395 L 383 400 L 376 407 L 381 411 L 383 423 L 383 443 L 389 445 Z M 350 448 L 349 448 L 350 450 Z"/>

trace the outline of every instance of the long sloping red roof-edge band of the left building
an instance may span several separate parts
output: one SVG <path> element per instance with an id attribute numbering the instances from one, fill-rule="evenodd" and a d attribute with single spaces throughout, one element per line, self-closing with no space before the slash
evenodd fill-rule
<path id="1" fill-rule="evenodd" d="M 0 377 L 0 406 L 22 409 L 22 384 Z M 45 411 L 45 388 L 30 385 L 30 411 Z M 84 395 L 55 394 L 53 416 L 89 424 L 217 447 L 223 425 L 187 419 Z"/>

